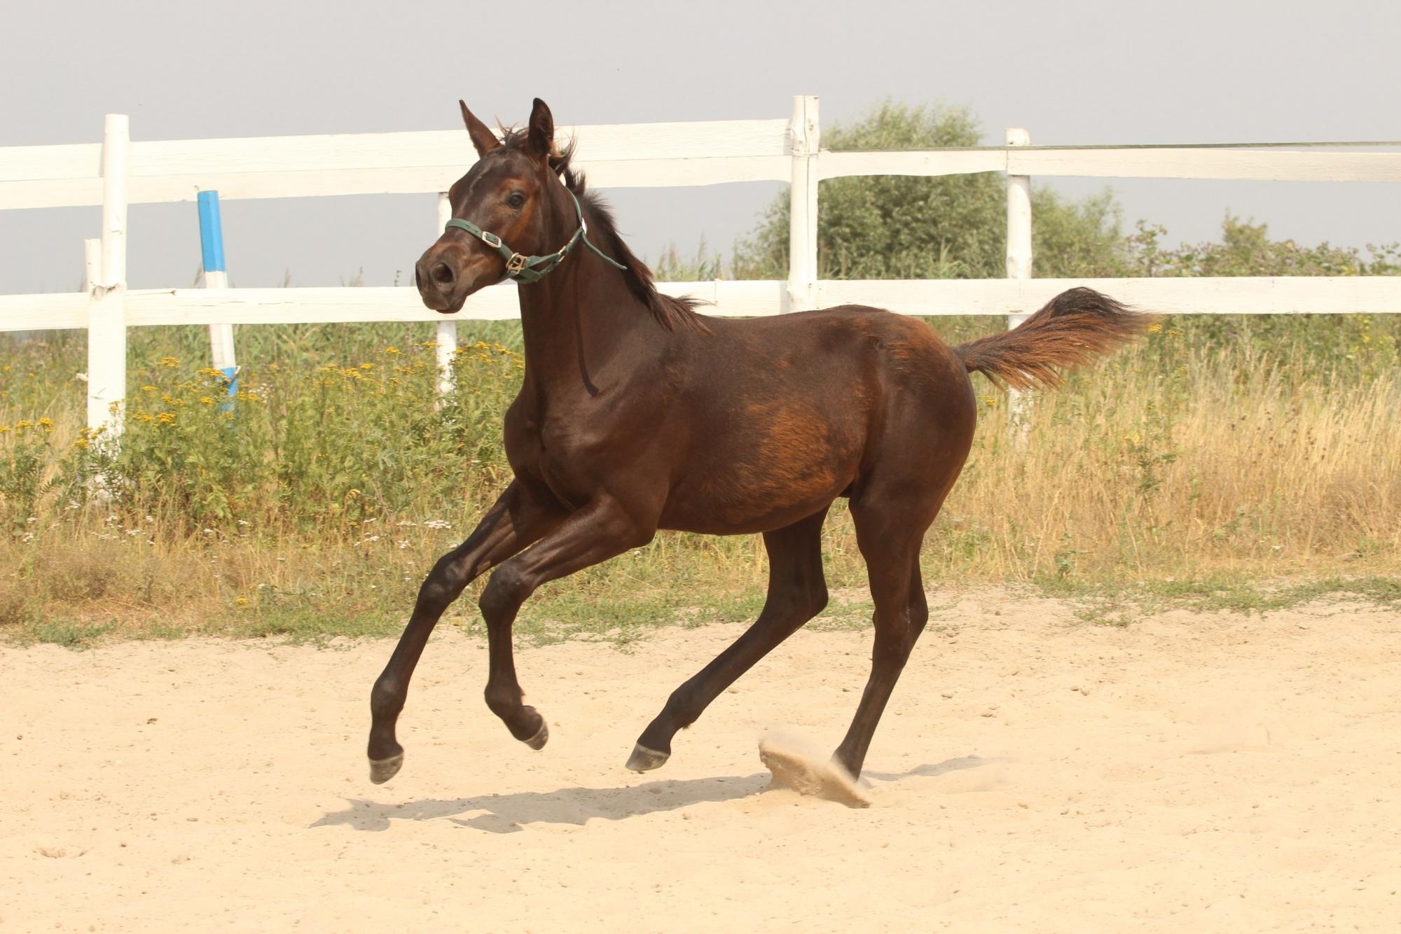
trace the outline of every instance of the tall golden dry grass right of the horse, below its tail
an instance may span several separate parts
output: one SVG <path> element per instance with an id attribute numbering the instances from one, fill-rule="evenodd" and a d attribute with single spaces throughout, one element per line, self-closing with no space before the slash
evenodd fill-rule
<path id="1" fill-rule="evenodd" d="M 985 396 L 993 406 L 941 522 L 950 573 L 1397 567 L 1395 372 L 1339 385 L 1216 350 L 1167 374 L 1149 363 L 1131 351 L 1034 396 L 1020 441 Z"/>

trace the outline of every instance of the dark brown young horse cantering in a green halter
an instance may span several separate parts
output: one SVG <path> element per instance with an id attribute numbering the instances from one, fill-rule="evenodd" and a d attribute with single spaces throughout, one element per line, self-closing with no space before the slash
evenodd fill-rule
<path id="1" fill-rule="evenodd" d="M 516 479 L 423 581 L 371 693 L 371 780 L 403 763 L 395 723 L 429 633 L 488 569 L 486 704 L 539 749 L 549 734 L 521 703 L 511 654 L 511 625 L 535 588 L 646 545 L 657 529 L 759 532 L 769 585 L 758 620 L 671 695 L 628 760 L 639 772 L 663 765 L 678 730 L 827 605 L 820 531 L 839 496 L 850 500 L 876 605 L 870 679 L 834 756 L 859 776 L 929 618 L 919 548 L 972 442 L 969 371 L 1056 385 L 1062 368 L 1131 339 L 1143 318 L 1089 288 L 960 347 L 923 322 L 856 305 L 703 318 L 654 288 L 584 192 L 570 150 L 555 148 L 544 102 L 504 140 L 465 104 L 462 118 L 481 158 L 453 185 L 454 220 L 416 279 L 441 312 L 504 277 L 521 283 L 525 374 L 504 426 Z"/>

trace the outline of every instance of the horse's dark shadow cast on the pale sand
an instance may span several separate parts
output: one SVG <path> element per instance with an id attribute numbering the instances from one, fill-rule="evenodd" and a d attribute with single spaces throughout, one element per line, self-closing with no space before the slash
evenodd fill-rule
<path id="1" fill-rule="evenodd" d="M 867 772 L 864 777 L 876 781 L 934 777 L 957 769 L 975 769 L 993 760 L 961 756 L 902 773 Z M 343 825 L 356 830 L 382 832 L 395 821 L 450 821 L 462 828 L 489 833 L 517 833 L 530 823 L 583 826 L 591 819 L 625 821 L 661 811 L 679 811 L 708 801 L 738 801 L 766 791 L 771 779 L 769 773 L 761 772 L 750 776 L 646 781 L 611 788 L 567 787 L 555 791 L 483 794 L 472 798 L 425 798 L 405 804 L 346 798 L 349 807 L 326 812 L 311 826 Z"/>

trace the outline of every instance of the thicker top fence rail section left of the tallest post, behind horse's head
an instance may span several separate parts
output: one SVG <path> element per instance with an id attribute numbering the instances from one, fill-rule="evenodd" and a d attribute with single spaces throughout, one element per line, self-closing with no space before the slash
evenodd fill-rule
<path id="1" fill-rule="evenodd" d="M 600 188 L 789 181 L 787 120 L 560 127 Z M 102 146 L 0 150 L 0 209 L 102 203 Z M 132 204 L 446 192 L 476 161 L 464 130 L 130 144 Z"/>

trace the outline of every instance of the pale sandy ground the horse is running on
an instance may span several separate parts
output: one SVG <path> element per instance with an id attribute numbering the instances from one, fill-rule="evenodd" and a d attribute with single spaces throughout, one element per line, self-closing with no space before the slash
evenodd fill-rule
<path id="1" fill-rule="evenodd" d="M 765 791 L 757 748 L 835 746 L 866 633 L 799 633 L 637 776 L 737 627 L 521 650 L 538 753 L 446 632 L 382 787 L 389 643 L 4 650 L 0 930 L 1398 930 L 1401 613 L 1115 629 L 992 594 L 933 625 L 864 811 Z"/>

